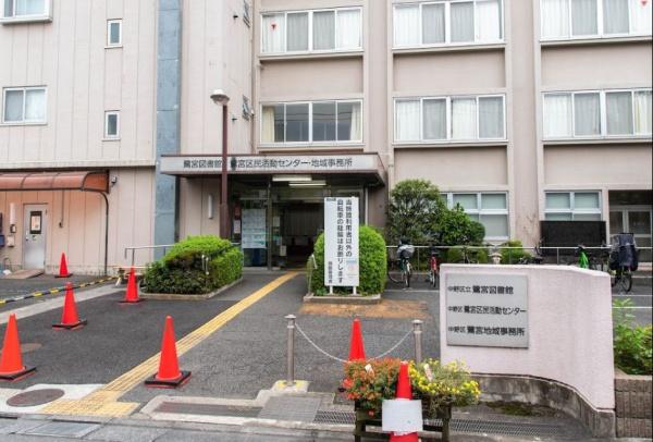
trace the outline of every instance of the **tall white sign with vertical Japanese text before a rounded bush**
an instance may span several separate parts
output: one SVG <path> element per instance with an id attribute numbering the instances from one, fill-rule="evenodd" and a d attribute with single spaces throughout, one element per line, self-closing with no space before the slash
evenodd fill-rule
<path id="1" fill-rule="evenodd" d="M 358 286 L 358 198 L 324 198 L 324 285 Z"/>

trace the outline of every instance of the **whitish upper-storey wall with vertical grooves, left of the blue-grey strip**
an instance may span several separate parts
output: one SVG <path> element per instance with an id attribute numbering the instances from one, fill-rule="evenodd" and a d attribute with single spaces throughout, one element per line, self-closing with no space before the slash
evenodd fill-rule
<path id="1" fill-rule="evenodd" d="M 47 87 L 47 124 L 2 125 L 1 169 L 153 164 L 155 1 L 53 1 L 53 20 L 0 26 L 0 88 Z M 107 20 L 123 46 L 106 49 Z M 104 111 L 121 138 L 102 140 Z"/>

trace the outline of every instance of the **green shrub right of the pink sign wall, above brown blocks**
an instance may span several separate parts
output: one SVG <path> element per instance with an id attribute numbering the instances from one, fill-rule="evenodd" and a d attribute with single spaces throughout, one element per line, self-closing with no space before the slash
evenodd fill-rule
<path id="1" fill-rule="evenodd" d="M 632 300 L 614 300 L 615 366 L 628 375 L 653 375 L 653 327 L 636 326 L 628 312 Z"/>

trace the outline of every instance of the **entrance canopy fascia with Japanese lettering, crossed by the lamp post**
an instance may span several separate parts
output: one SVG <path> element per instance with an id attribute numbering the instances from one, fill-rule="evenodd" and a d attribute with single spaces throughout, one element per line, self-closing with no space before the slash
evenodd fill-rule
<path id="1" fill-rule="evenodd" d="M 385 183 L 385 169 L 377 154 L 238 155 L 229 156 L 230 175 L 355 175 L 370 185 Z M 177 176 L 220 175 L 220 156 L 161 157 L 161 173 Z"/>

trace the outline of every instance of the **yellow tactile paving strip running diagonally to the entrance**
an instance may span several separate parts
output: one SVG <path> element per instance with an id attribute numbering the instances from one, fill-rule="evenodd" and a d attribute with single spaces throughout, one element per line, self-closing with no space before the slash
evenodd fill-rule
<path id="1" fill-rule="evenodd" d="M 181 356 L 188 352 L 206 337 L 221 329 L 229 321 L 242 314 L 244 310 L 262 299 L 264 296 L 272 293 L 279 286 L 295 278 L 297 272 L 288 272 L 274 281 L 266 284 L 263 287 L 254 292 L 243 300 L 231 306 L 209 322 L 200 326 L 176 342 L 177 355 Z M 113 381 L 109 382 L 101 389 L 82 397 L 81 400 L 59 400 L 54 401 L 40 413 L 49 415 L 73 415 L 73 416 L 101 416 L 101 417 L 125 417 L 134 413 L 139 404 L 118 402 L 118 400 L 132 390 L 134 386 L 145 381 L 148 377 L 157 372 L 159 366 L 159 356 L 155 356 L 143 361 L 130 371 Z"/>

